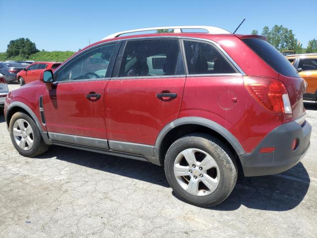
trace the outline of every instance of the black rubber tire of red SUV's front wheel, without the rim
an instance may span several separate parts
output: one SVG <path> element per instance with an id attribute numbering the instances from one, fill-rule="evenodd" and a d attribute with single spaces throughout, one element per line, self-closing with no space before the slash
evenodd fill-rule
<path id="1" fill-rule="evenodd" d="M 13 136 L 13 125 L 14 125 L 14 122 L 18 119 L 26 120 L 30 124 L 30 126 L 33 130 L 33 146 L 29 150 L 21 149 L 18 146 L 18 144 L 15 142 L 15 139 Z M 13 143 L 13 146 L 19 152 L 19 154 L 22 156 L 32 158 L 32 157 L 35 157 L 35 156 L 38 156 L 38 155 L 45 153 L 49 149 L 49 145 L 47 145 L 44 142 L 43 137 L 41 135 L 41 132 L 40 132 L 37 124 L 34 122 L 33 119 L 31 119 L 28 115 L 26 115 L 24 113 L 17 112 L 15 114 L 13 114 L 13 116 L 10 120 L 9 132 L 10 132 L 10 137 L 11 137 L 11 141 Z"/>

